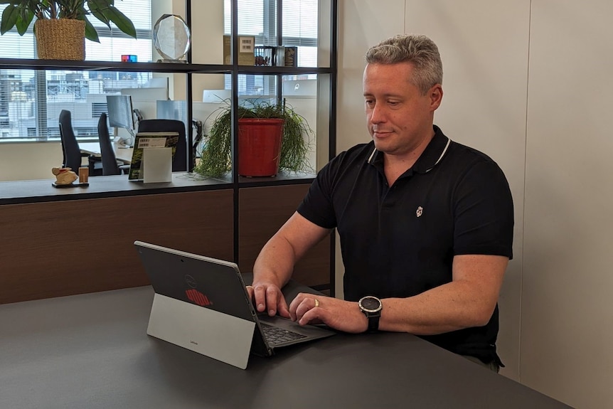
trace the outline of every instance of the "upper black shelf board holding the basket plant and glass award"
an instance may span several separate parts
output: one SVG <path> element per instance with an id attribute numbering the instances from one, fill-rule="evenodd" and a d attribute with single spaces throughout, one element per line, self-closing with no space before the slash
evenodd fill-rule
<path id="1" fill-rule="evenodd" d="M 82 70 L 183 74 L 230 74 L 235 69 L 233 65 L 219 64 L 122 63 L 117 61 L 38 60 L 36 58 L 0 58 L 0 66 L 4 69 L 14 70 Z M 330 68 L 260 67 L 246 65 L 238 65 L 236 70 L 239 74 L 260 75 L 331 73 Z"/>

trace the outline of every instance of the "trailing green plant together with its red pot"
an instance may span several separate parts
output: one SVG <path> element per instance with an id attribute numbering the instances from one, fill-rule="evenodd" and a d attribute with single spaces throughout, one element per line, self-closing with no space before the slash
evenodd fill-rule
<path id="1" fill-rule="evenodd" d="M 250 105 L 250 106 L 245 106 Z M 220 108 L 203 139 L 201 160 L 194 171 L 219 177 L 231 169 L 232 114 Z M 212 115 L 213 115 L 212 114 Z M 275 176 L 279 169 L 312 171 L 309 153 L 313 130 L 292 107 L 249 100 L 238 107 L 238 174 Z"/>

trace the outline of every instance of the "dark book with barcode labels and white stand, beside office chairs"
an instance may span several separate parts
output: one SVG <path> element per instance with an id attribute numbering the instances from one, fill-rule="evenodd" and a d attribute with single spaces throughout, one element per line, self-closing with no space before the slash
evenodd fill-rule
<path id="1" fill-rule="evenodd" d="M 128 180 L 171 181 L 178 137 L 178 132 L 137 133 Z"/>

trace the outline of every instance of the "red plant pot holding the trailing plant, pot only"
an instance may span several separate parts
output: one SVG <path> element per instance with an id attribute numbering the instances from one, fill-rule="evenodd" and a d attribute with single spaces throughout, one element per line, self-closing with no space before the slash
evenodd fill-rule
<path id="1" fill-rule="evenodd" d="M 238 119 L 238 174 L 276 176 L 283 136 L 283 119 Z"/>

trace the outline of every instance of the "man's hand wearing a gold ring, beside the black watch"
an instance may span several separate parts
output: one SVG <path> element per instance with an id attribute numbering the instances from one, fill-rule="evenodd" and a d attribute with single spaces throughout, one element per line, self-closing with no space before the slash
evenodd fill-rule
<path id="1" fill-rule="evenodd" d="M 330 328 L 357 334 L 368 329 L 368 319 L 357 302 L 299 293 L 289 304 L 289 315 L 300 325 L 324 323 Z"/>

